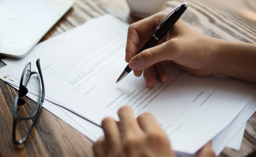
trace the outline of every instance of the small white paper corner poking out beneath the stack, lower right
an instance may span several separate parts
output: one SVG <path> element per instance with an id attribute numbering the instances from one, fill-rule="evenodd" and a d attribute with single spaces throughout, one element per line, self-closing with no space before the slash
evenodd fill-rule
<path id="1" fill-rule="evenodd" d="M 245 133 L 245 127 L 246 127 L 246 123 L 236 133 L 235 137 L 231 141 L 228 142 L 228 145 L 226 145 L 226 147 L 234 149 L 234 150 L 240 150 L 242 140 L 243 140 L 243 134 Z"/>

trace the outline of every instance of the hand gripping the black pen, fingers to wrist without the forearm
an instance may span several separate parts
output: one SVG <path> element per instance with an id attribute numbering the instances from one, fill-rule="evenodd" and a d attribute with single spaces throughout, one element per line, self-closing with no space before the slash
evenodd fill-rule
<path id="1" fill-rule="evenodd" d="M 146 49 L 134 56 L 137 50 L 151 36 L 152 31 L 168 11 L 145 18 L 128 28 L 126 62 L 135 76 L 142 74 L 148 87 L 154 86 L 154 71 L 162 82 L 167 80 L 164 67 L 173 64 L 189 73 L 200 76 L 211 75 L 214 64 L 213 38 L 202 35 L 178 20 L 156 47 Z M 171 62 L 172 61 L 172 62 Z"/>

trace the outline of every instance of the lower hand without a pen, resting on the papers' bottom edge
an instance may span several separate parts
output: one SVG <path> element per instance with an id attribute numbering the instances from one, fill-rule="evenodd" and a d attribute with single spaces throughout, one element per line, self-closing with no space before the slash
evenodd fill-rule
<path id="1" fill-rule="evenodd" d="M 134 118 L 132 108 L 118 111 L 119 122 L 107 117 L 102 120 L 105 136 L 93 144 L 95 157 L 175 157 L 170 142 L 150 113 Z M 211 143 L 197 157 L 214 157 Z"/>

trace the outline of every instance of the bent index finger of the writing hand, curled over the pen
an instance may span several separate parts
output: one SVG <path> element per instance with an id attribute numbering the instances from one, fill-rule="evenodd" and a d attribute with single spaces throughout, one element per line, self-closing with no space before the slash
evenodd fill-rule
<path id="1" fill-rule="evenodd" d="M 126 42 L 126 62 L 129 62 L 129 60 L 137 53 L 140 38 L 150 35 L 150 32 L 154 30 L 167 13 L 168 11 L 161 11 L 156 15 L 152 15 L 129 26 Z"/>

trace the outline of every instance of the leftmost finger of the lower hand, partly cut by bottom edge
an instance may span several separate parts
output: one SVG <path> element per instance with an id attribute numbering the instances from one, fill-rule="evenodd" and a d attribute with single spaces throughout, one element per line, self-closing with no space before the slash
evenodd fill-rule
<path id="1" fill-rule="evenodd" d="M 93 152 L 95 157 L 106 157 L 106 146 L 104 143 L 104 137 L 100 137 L 93 144 Z"/>

